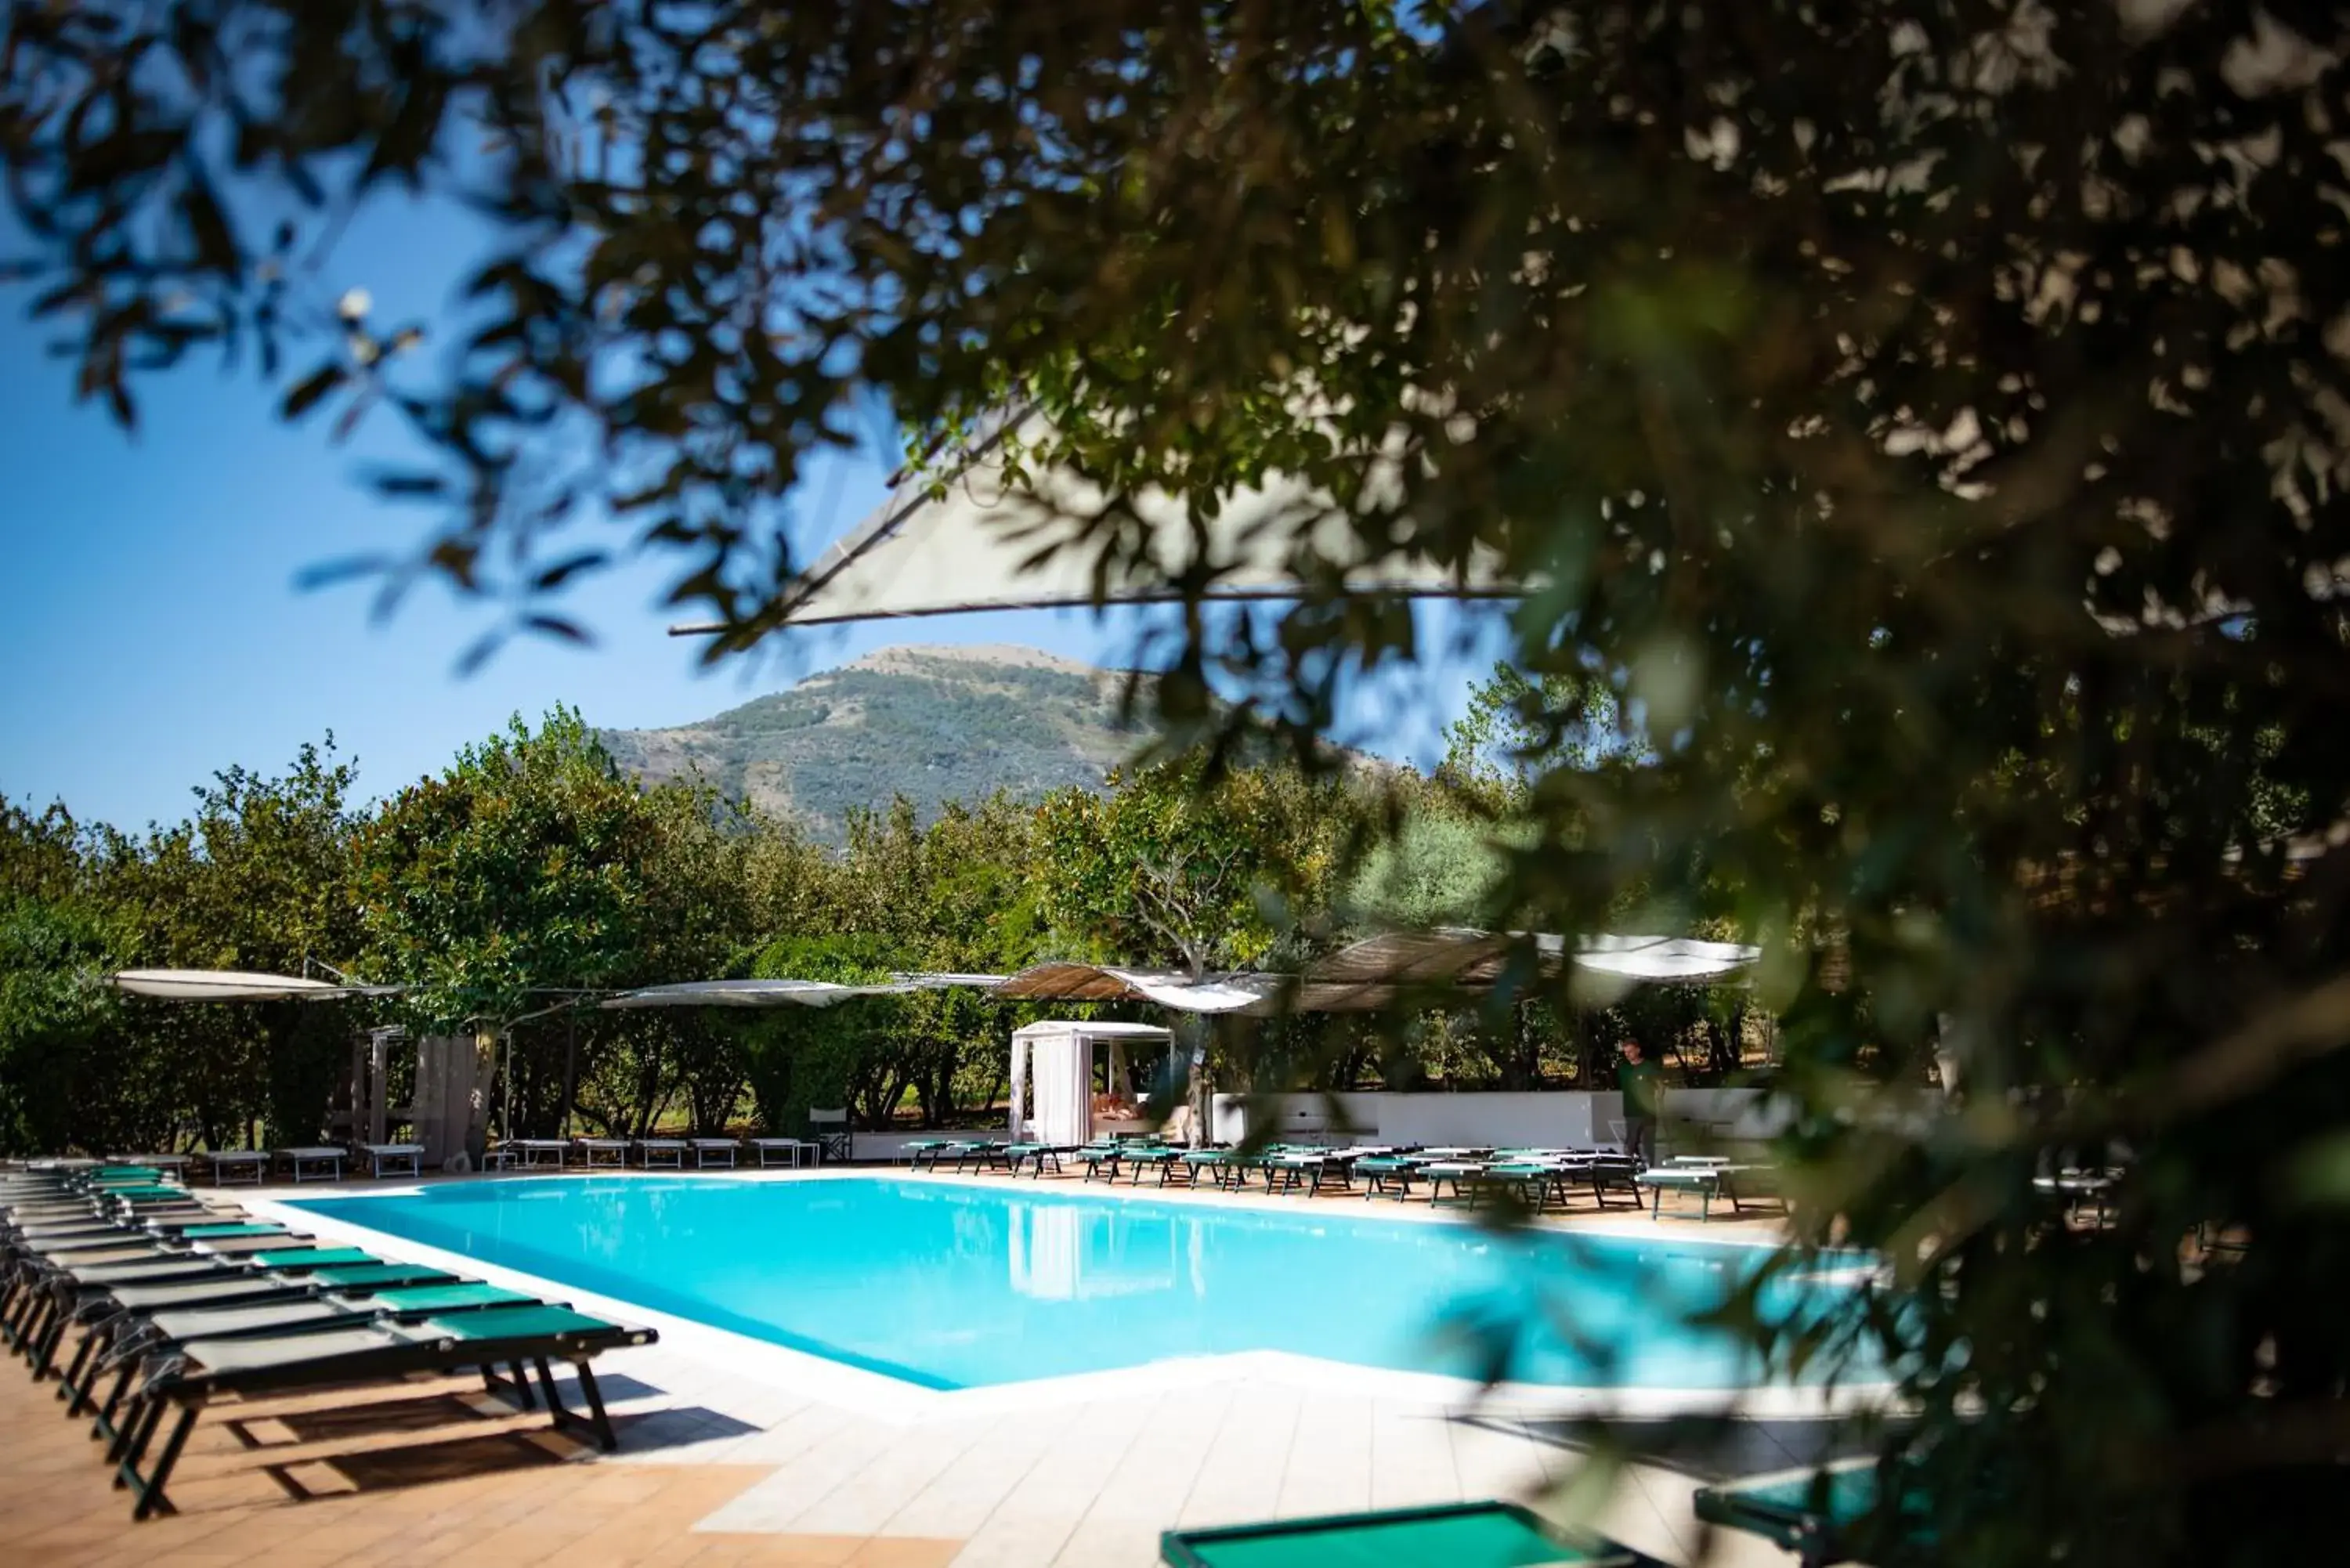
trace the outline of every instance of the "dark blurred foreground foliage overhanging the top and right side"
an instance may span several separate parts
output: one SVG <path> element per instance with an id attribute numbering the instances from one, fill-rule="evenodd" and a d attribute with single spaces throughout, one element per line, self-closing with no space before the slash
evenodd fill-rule
<path id="1" fill-rule="evenodd" d="M 1191 724 L 1419 654 L 1328 508 L 1490 552 L 1495 898 L 1798 954 L 1795 1225 L 1894 1269 L 1934 1509 L 1871 1556 L 2268 1563 L 2338 1552 L 2350 1450 L 2345 59 L 2324 0 L 12 5 L 0 153 L 85 393 L 308 343 L 291 416 L 437 456 L 376 567 L 515 625 L 604 510 L 752 646 L 872 400 L 1048 414 L 1067 548 L 1318 487 L 1276 632 L 1189 623 Z M 486 324 L 303 339 L 397 186 L 494 214 Z M 1645 762 L 1553 766 L 1596 722 Z M 2117 1145 L 2061 1225 L 2035 1168 Z"/>

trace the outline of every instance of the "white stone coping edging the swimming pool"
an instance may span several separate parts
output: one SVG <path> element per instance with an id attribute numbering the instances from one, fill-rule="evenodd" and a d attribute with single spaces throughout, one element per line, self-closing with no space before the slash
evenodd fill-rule
<path id="1" fill-rule="evenodd" d="M 907 1173 L 891 1168 L 848 1168 L 848 1171 L 545 1171 L 536 1175 L 512 1173 L 496 1178 L 472 1178 L 472 1180 L 559 1180 L 559 1178 L 698 1178 L 698 1180 L 907 1180 Z M 912 1180 L 924 1185 L 954 1182 L 971 1187 L 987 1187 L 1001 1192 L 1008 1178 L 985 1178 L 985 1175 L 952 1175 L 952 1173 L 921 1173 Z M 1067 1185 L 1062 1185 L 1065 1190 Z M 555 1279 L 543 1279 L 526 1274 L 522 1269 L 510 1269 L 482 1258 L 470 1258 L 465 1253 L 451 1253 L 444 1248 L 425 1246 L 392 1232 L 378 1232 L 367 1225 L 357 1225 L 343 1218 L 322 1215 L 298 1204 L 324 1201 L 324 1199 L 390 1199 L 390 1197 L 416 1197 L 423 1192 L 423 1182 L 407 1185 L 369 1185 L 352 1190 L 348 1185 L 324 1185 L 313 1182 L 303 1187 L 261 1187 L 240 1194 L 244 1206 L 268 1220 L 306 1229 L 329 1241 L 341 1241 L 350 1246 L 367 1246 L 374 1253 L 395 1258 L 402 1262 L 418 1262 L 425 1267 L 449 1269 L 451 1274 L 468 1274 L 484 1279 L 494 1286 L 505 1286 L 510 1291 L 526 1291 L 545 1300 L 564 1300 L 583 1312 L 599 1316 L 611 1316 L 625 1324 L 642 1324 L 660 1333 L 660 1345 L 670 1352 L 686 1356 L 689 1361 L 703 1363 L 712 1373 L 724 1378 L 740 1378 L 759 1385 L 773 1394 L 790 1394 L 797 1399 L 815 1399 L 855 1415 L 865 1415 L 884 1422 L 916 1425 L 940 1418 L 959 1415 L 992 1415 L 992 1413 L 1027 1413 L 1027 1410 L 1055 1410 L 1102 1399 L 1144 1399 L 1156 1394 L 1170 1394 L 1177 1389 L 1196 1389 L 1203 1385 L 1222 1382 L 1250 1382 L 1250 1385 L 1276 1385 L 1300 1392 L 1335 1392 L 1335 1394 L 1363 1394 L 1375 1399 L 1410 1399 L 1426 1406 L 1441 1406 L 1445 1410 L 1478 1410 L 1509 1415 L 1516 1420 L 1596 1420 L 1596 1418 L 1619 1418 L 1619 1420 L 1659 1420 L 1671 1415 L 1734 1415 L 1746 1420 L 1828 1420 L 1838 1415 L 1852 1415 L 1859 1410 L 1882 1408 L 1892 1396 L 1892 1385 L 1885 1382 L 1854 1382 L 1840 1387 L 1746 1387 L 1746 1389 L 1657 1389 L 1657 1387 L 1556 1387 L 1556 1385 L 1525 1385 L 1504 1382 L 1485 1387 L 1469 1378 L 1448 1378 L 1438 1373 L 1401 1373 L 1389 1368 L 1358 1366 L 1351 1361 L 1330 1361 L 1321 1356 L 1302 1356 L 1292 1352 L 1257 1349 L 1236 1352 L 1224 1356 L 1173 1356 L 1163 1361 L 1149 1361 L 1142 1366 L 1112 1368 L 1100 1373 L 1074 1373 L 1062 1378 L 1034 1378 L 1025 1382 L 1001 1382 L 971 1389 L 931 1389 L 902 1378 L 891 1378 L 886 1373 L 865 1371 L 848 1366 L 844 1361 L 832 1361 L 811 1352 L 790 1349 L 785 1345 L 773 1345 L 768 1340 L 757 1340 L 752 1335 L 733 1333 L 726 1328 L 712 1328 L 696 1319 L 677 1316 L 670 1312 L 658 1312 L 634 1300 L 618 1295 L 602 1295 L 585 1291 L 580 1286 L 562 1284 Z M 1046 1187 L 1055 1192 L 1055 1187 Z M 1072 1192 L 1069 1197 L 1083 1197 Z M 1159 1190 L 1152 1187 L 1107 1187 L 1102 1182 L 1093 1185 L 1095 1199 L 1126 1201 L 1133 1197 L 1156 1201 Z M 1168 1201 L 1180 1201 L 1187 1194 L 1182 1190 L 1168 1190 L 1163 1194 Z M 1267 1194 L 1189 1194 L 1194 1199 L 1210 1201 L 1215 1206 L 1246 1206 L 1267 1213 L 1300 1215 L 1295 1199 L 1267 1197 Z M 1363 1218 L 1391 1220 L 1391 1222 L 1459 1222 L 1459 1211 L 1434 1211 L 1434 1213 L 1405 1213 L 1389 1215 L 1391 1208 L 1412 1211 L 1410 1204 L 1365 1204 Z M 1426 1206 L 1419 1206 L 1422 1211 Z M 1673 1246 L 1774 1246 L 1770 1239 L 1755 1237 L 1659 1237 L 1650 1220 L 1640 1215 L 1626 1215 L 1638 1222 L 1638 1227 L 1617 1225 L 1574 1225 L 1574 1227 L 1549 1227 L 1560 1234 L 1596 1234 L 1596 1237 L 1640 1237 L 1650 1241 L 1668 1241 Z"/>

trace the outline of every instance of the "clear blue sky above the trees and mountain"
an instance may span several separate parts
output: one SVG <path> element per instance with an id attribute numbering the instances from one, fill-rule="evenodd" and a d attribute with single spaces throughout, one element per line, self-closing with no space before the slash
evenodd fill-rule
<path id="1" fill-rule="evenodd" d="M 468 254 L 463 221 L 378 209 L 322 287 L 367 287 L 381 320 L 430 320 Z M 0 795 L 16 802 L 63 799 L 122 827 L 174 820 L 216 769 L 280 771 L 327 731 L 357 757 L 362 790 L 383 795 L 508 715 L 555 703 L 604 726 L 682 724 L 895 642 L 1018 642 L 1109 663 L 1135 632 L 1130 618 L 1079 611 L 952 616 L 808 632 L 783 658 L 700 670 L 689 642 L 663 635 L 677 618 L 660 607 L 667 569 L 634 562 L 566 597 L 595 649 L 512 642 L 461 675 L 486 609 L 428 585 L 376 621 L 367 585 L 296 585 L 306 567 L 418 536 L 421 512 L 357 480 L 367 458 L 397 451 L 390 421 L 334 447 L 322 425 L 277 423 L 282 388 L 251 367 L 200 360 L 146 383 L 127 437 L 99 407 L 70 404 L 70 367 L 45 355 L 26 299 L 0 289 Z M 855 456 L 813 477 L 804 524 L 818 536 L 855 524 L 886 494 L 888 461 Z M 1450 611 L 1424 614 L 1450 628 Z M 1344 738 L 1434 759 L 1473 672 L 1455 658 L 1365 691 Z"/>

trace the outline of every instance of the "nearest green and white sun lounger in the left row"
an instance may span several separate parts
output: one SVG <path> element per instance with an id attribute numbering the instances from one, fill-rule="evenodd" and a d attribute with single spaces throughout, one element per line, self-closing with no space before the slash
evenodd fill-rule
<path id="1" fill-rule="evenodd" d="M 618 1446 L 590 1361 L 623 1345 L 651 1345 L 651 1328 L 623 1328 L 569 1307 L 486 1307 L 446 1312 L 416 1324 L 383 1321 L 320 1333 L 251 1340 L 190 1340 L 174 1354 L 143 1366 L 139 1389 L 125 1410 L 108 1458 L 115 1479 L 132 1490 L 132 1519 L 169 1512 L 164 1488 L 179 1465 L 202 1408 L 221 1396 L 247 1399 L 310 1389 L 385 1382 L 416 1373 L 482 1373 L 494 1394 L 517 1394 L 529 1408 L 529 1387 L 508 1382 L 498 1368 L 536 1368 L 548 1413 L 559 1432 L 585 1432 L 604 1450 Z M 555 1392 L 548 1361 L 571 1361 L 588 1415 L 571 1413 Z M 143 1465 L 164 1415 L 176 1410 L 153 1465 Z"/>

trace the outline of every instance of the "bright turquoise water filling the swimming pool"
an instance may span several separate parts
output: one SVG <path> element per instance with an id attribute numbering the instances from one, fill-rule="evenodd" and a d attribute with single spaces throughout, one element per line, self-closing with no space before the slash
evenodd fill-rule
<path id="1" fill-rule="evenodd" d="M 1753 1276 L 1746 1246 L 919 1178 L 531 1178 L 298 1206 L 935 1389 L 1250 1349 L 1570 1387 L 1758 1378 L 1690 1326 Z M 1845 1300 L 1772 1281 L 1762 1312 Z"/>

